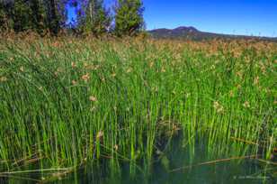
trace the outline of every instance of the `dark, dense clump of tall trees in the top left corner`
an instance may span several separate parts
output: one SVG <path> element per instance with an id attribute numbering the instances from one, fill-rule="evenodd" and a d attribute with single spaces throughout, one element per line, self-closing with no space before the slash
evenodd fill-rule
<path id="1" fill-rule="evenodd" d="M 57 35 L 67 21 L 68 0 L 0 0 L 0 29 Z"/>

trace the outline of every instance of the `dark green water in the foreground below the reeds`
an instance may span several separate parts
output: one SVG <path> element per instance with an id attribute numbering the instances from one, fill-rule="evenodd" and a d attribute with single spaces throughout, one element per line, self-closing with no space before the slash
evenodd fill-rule
<path id="1" fill-rule="evenodd" d="M 224 157 L 222 157 L 224 158 Z M 226 158 L 226 157 L 225 157 Z M 121 170 L 111 172 L 109 161 L 100 163 L 100 166 L 91 164 L 76 173 L 67 174 L 58 179 L 48 180 L 48 183 L 75 184 L 75 183 L 192 183 L 192 184 L 217 184 L 217 183 L 277 183 L 277 166 L 265 165 L 255 159 L 245 159 L 241 161 L 212 161 L 207 154 L 205 144 L 195 146 L 194 154 L 192 150 L 183 148 L 182 143 L 173 140 L 165 152 L 156 154 L 151 167 L 143 169 L 144 164 L 140 163 L 135 173 L 130 174 L 130 164 L 121 163 Z M 202 163 L 201 165 L 197 165 Z M 189 165 L 191 168 L 175 170 Z M 17 178 L 14 178 L 17 177 Z M 0 183 L 37 183 L 30 179 L 41 179 L 38 173 L 28 175 L 14 175 L 10 178 L 0 178 Z M 53 177 L 53 173 L 44 173 L 44 177 Z M 20 178 L 22 177 L 22 178 Z M 29 178 L 29 179 L 26 179 Z"/>

